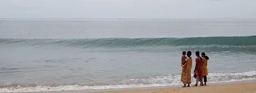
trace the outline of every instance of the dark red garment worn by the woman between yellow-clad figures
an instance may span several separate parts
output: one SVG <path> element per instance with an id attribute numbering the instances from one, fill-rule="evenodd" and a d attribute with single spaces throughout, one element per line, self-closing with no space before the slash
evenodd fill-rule
<path id="1" fill-rule="evenodd" d="M 197 70 L 197 73 L 198 73 L 198 76 L 199 76 L 199 80 L 202 81 L 203 80 L 203 76 L 202 76 L 203 68 L 202 68 L 202 61 L 201 61 L 200 57 L 196 58 L 196 68 L 194 70 L 194 76 L 193 76 L 193 77 L 195 77 L 195 79 L 197 77 L 196 70 Z"/>

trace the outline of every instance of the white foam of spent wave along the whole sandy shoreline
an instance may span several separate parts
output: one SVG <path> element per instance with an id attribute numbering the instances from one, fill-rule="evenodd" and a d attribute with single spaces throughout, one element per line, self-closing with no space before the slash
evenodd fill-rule
<path id="1" fill-rule="evenodd" d="M 193 74 L 191 75 L 193 76 Z M 158 87 L 182 85 L 181 75 L 156 76 L 145 79 L 124 80 L 122 85 L 95 85 L 95 86 L 36 86 L 36 87 L 3 87 L 0 92 L 39 92 L 39 91 L 72 91 L 72 90 L 102 90 L 102 89 L 126 89 L 138 87 Z M 235 82 L 244 80 L 256 80 L 256 71 L 238 73 L 209 73 L 208 83 Z M 195 79 L 192 77 L 192 84 Z"/>

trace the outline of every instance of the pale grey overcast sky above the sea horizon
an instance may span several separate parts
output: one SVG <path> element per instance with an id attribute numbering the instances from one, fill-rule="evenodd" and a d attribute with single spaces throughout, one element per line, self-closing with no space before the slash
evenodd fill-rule
<path id="1" fill-rule="evenodd" d="M 256 0 L 0 0 L 0 18 L 256 18 Z"/>

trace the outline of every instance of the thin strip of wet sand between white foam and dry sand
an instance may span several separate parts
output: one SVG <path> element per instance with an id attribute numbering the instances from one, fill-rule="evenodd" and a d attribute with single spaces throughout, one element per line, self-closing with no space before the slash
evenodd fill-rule
<path id="1" fill-rule="evenodd" d="M 220 87 L 220 86 L 238 86 L 238 85 L 246 85 L 246 84 L 252 84 L 256 86 L 256 80 L 245 80 L 245 81 L 235 81 L 235 82 L 220 82 L 220 83 L 208 83 L 208 86 L 197 86 L 197 87 Z M 157 90 L 181 90 L 181 89 L 191 89 L 194 84 L 191 84 L 192 87 L 184 87 L 182 88 L 182 85 L 177 86 L 158 86 L 158 87 L 138 87 L 138 88 L 127 88 L 127 89 L 103 89 L 103 90 L 77 90 L 77 91 L 40 91 L 40 92 L 32 92 L 32 93 L 122 93 L 122 92 L 138 92 L 138 91 L 157 91 Z M 196 88 L 196 87 L 195 87 Z M 255 88 L 256 90 L 256 88 Z M 160 93 L 160 92 L 159 92 Z"/>

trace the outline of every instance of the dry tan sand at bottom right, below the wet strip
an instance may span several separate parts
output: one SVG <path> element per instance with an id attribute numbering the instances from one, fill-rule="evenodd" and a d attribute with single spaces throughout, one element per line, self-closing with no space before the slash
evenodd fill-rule
<path id="1" fill-rule="evenodd" d="M 256 83 L 252 84 L 234 84 L 234 85 L 215 85 L 215 86 L 198 86 L 185 88 L 165 88 L 165 89 L 149 89 L 149 90 L 127 90 L 127 91 L 109 91 L 94 93 L 256 93 Z"/>

